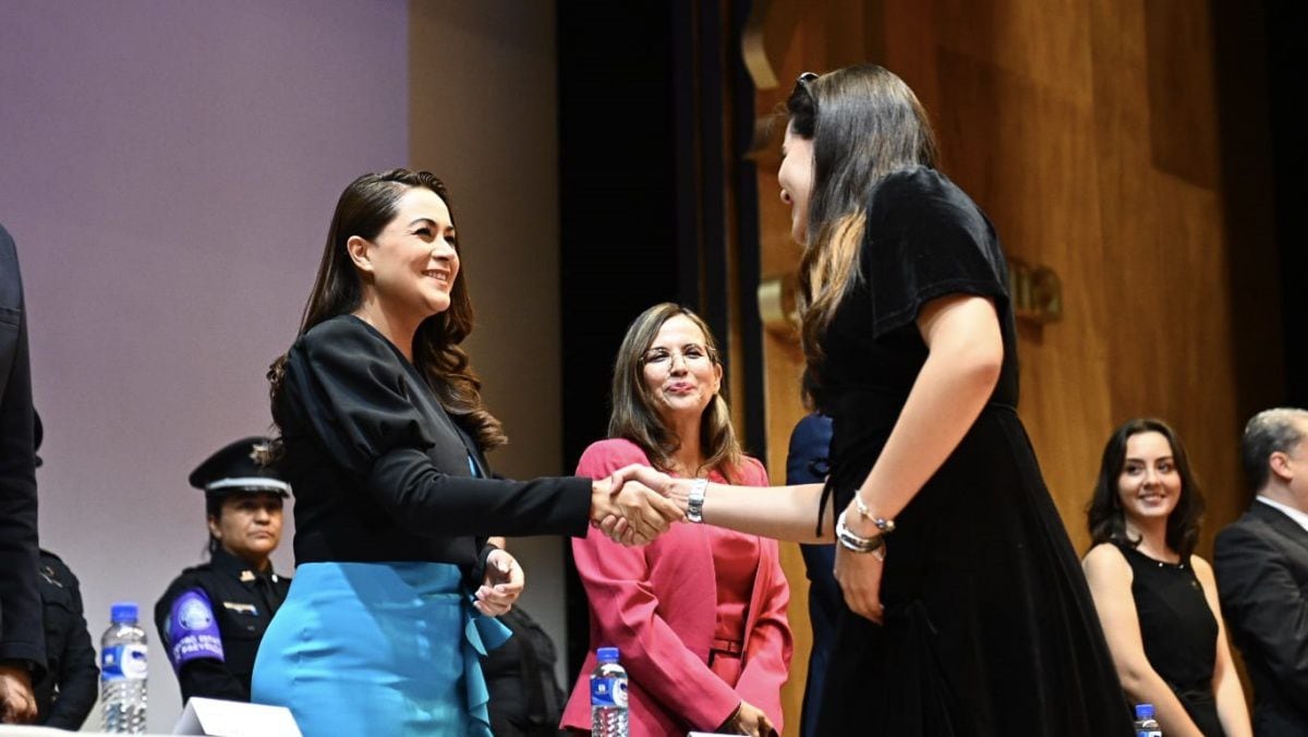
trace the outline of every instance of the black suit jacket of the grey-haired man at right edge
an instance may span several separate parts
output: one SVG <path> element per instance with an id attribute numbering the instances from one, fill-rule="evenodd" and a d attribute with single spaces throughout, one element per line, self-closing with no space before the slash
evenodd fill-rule
<path id="1" fill-rule="evenodd" d="M 1253 651 L 1245 657 L 1256 657 L 1270 670 L 1290 703 L 1308 704 L 1308 594 L 1300 584 L 1304 562 L 1292 560 L 1270 539 L 1270 530 L 1260 528 L 1241 521 L 1216 538 L 1214 567 L 1222 611 L 1236 643 Z"/>

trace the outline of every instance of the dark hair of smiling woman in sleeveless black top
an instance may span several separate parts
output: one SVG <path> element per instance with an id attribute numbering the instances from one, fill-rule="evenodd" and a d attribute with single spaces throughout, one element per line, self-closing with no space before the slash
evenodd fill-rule
<path id="1" fill-rule="evenodd" d="M 1194 471 L 1190 470 L 1190 457 L 1176 431 L 1163 420 L 1152 418 L 1127 420 L 1113 431 L 1108 444 L 1104 445 L 1104 457 L 1099 463 L 1099 480 L 1095 482 L 1095 494 L 1086 509 L 1090 538 L 1093 545 L 1124 542 L 1134 547 L 1141 543 L 1139 538 L 1131 539 L 1126 534 L 1126 516 L 1117 494 L 1117 482 L 1126 466 L 1126 441 L 1142 432 L 1156 432 L 1165 437 L 1172 446 L 1172 461 L 1176 463 L 1176 473 L 1181 476 L 1181 497 L 1167 517 L 1167 546 L 1179 552 L 1181 560 L 1185 562 L 1194 552 L 1194 546 L 1199 539 L 1203 494 L 1199 491 L 1199 483 L 1194 479 Z"/>

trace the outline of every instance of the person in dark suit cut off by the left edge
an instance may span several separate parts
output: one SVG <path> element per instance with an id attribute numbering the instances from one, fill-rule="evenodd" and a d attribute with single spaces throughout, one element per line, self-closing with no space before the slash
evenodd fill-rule
<path id="1" fill-rule="evenodd" d="M 22 278 L 0 226 L 0 721 L 37 717 L 31 682 L 46 669 L 37 586 L 37 454 Z"/>

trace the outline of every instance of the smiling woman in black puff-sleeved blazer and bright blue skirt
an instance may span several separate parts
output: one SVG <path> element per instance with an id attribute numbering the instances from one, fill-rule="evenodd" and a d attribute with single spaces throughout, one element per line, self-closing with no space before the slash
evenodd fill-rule
<path id="1" fill-rule="evenodd" d="M 300 339 L 269 370 L 297 569 L 252 698 L 290 707 L 306 737 L 489 734 L 477 658 L 522 576 L 487 537 L 583 535 L 617 511 L 649 539 L 680 518 L 621 473 L 490 478 L 483 452 L 505 436 L 459 348 L 471 329 L 445 185 L 403 169 L 351 183 Z"/>

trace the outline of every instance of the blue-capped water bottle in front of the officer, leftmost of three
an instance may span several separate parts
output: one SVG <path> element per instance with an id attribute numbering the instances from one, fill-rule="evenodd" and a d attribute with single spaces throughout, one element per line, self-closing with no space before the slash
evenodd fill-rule
<path id="1" fill-rule="evenodd" d="M 109 630 L 99 644 L 99 706 L 102 729 L 110 733 L 145 732 L 145 630 L 136 624 L 133 602 L 118 602 L 109 611 Z"/>

